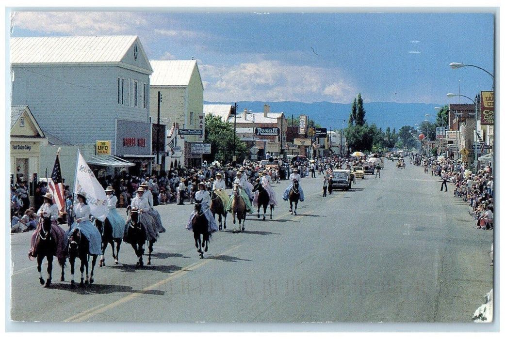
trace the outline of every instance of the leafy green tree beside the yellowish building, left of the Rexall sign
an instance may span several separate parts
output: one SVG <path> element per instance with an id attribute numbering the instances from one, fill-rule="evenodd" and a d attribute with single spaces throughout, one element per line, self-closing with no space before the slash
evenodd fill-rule
<path id="1" fill-rule="evenodd" d="M 223 122 L 221 117 L 208 114 L 205 117 L 205 143 L 211 144 L 211 154 L 204 154 L 204 160 L 211 163 L 218 160 L 221 163 L 233 160 L 233 136 L 234 130 L 231 123 Z M 236 138 L 235 155 L 237 162 L 249 154 L 247 144 Z"/>

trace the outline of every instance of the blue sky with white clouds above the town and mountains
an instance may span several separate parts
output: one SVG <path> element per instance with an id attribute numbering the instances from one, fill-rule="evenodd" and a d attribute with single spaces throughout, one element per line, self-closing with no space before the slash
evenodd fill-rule
<path id="1" fill-rule="evenodd" d="M 492 86 L 449 63 L 494 73 L 493 9 L 109 10 L 24 9 L 11 36 L 138 35 L 150 60 L 196 59 L 206 101 L 471 103 L 446 93 Z"/>

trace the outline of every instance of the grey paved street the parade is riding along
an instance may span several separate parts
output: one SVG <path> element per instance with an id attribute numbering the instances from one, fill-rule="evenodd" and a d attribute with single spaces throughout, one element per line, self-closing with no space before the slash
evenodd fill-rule
<path id="1" fill-rule="evenodd" d="M 322 176 L 306 177 L 296 216 L 282 200 L 287 182 L 274 184 L 273 220 L 248 215 L 245 232 L 233 234 L 229 214 L 205 259 L 184 229 L 193 206 L 157 206 L 167 233 L 155 244 L 153 264 L 135 268 L 123 243 L 114 265 L 108 248 L 107 266 L 96 267 L 95 283 L 83 289 L 70 290 L 68 264 L 66 281 L 56 267 L 53 286 L 41 287 L 27 258 L 31 233 L 15 234 L 11 318 L 38 326 L 156 322 L 164 329 L 195 322 L 471 322 L 493 284 L 493 232 L 477 230 L 453 187 L 441 192 L 438 177 L 422 167 L 400 170 L 386 161 L 381 176 L 366 175 L 327 197 Z"/>

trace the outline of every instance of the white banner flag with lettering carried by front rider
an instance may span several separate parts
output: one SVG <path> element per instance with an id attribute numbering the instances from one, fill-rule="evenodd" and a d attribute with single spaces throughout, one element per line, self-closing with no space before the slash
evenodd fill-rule
<path id="1" fill-rule="evenodd" d="M 105 221 L 109 213 L 107 195 L 82 157 L 81 152 L 78 151 L 74 193 L 82 192 L 86 193 L 86 202 L 91 208 L 91 214 L 98 220 Z"/>

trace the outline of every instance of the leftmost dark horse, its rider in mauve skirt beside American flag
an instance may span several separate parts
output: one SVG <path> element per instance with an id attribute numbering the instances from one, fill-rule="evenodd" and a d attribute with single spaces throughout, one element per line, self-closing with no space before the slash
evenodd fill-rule
<path id="1" fill-rule="evenodd" d="M 39 274 L 40 285 L 49 287 L 53 279 L 53 257 L 56 256 L 58 248 L 58 240 L 51 235 L 51 218 L 45 217 L 41 220 L 40 232 L 35 240 L 35 248 L 37 249 L 37 270 Z M 47 259 L 47 274 L 49 277 L 46 281 L 42 278 L 42 260 Z M 58 263 L 62 268 L 61 281 L 65 280 L 65 258 L 58 258 Z"/>

